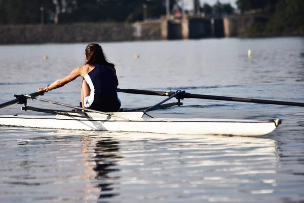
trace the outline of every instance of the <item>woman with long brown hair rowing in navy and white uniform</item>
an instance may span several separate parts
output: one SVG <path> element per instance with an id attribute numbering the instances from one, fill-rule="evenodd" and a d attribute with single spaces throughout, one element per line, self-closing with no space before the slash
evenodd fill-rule
<path id="1" fill-rule="evenodd" d="M 85 52 L 85 65 L 77 67 L 68 76 L 56 80 L 45 88 L 39 88 L 38 91 L 51 91 L 82 76 L 82 108 L 117 112 L 121 103 L 116 92 L 118 79 L 115 65 L 106 60 L 99 44 L 89 44 Z"/>

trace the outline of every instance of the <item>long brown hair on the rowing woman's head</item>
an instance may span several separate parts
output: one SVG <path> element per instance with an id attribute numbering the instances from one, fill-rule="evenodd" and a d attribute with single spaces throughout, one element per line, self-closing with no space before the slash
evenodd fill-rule
<path id="1" fill-rule="evenodd" d="M 88 61 L 86 64 L 101 64 L 110 67 L 115 67 L 113 63 L 107 61 L 102 48 L 99 44 L 91 43 L 86 48 L 86 56 Z"/>

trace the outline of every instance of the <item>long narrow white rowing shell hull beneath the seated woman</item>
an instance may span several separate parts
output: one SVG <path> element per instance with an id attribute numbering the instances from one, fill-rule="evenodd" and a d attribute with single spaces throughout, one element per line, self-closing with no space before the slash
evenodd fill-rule
<path id="1" fill-rule="evenodd" d="M 87 112 L 54 116 L 0 116 L 0 125 L 75 130 L 153 132 L 168 134 L 220 134 L 261 136 L 272 132 L 280 123 L 233 119 L 142 118 L 143 112 L 118 112 L 110 115 Z"/>

